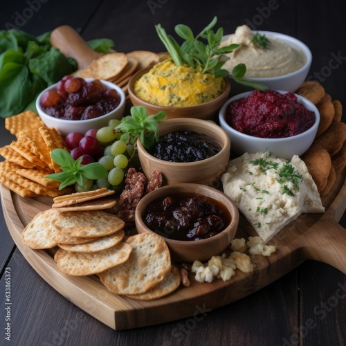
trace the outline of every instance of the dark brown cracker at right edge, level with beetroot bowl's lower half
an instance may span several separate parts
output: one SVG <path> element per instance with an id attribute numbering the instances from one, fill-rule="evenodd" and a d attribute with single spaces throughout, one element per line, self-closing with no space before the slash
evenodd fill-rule
<path id="1" fill-rule="evenodd" d="M 331 156 L 336 154 L 346 140 L 345 122 L 331 122 L 328 129 L 313 141 L 313 147 L 322 147 L 329 152 Z"/>

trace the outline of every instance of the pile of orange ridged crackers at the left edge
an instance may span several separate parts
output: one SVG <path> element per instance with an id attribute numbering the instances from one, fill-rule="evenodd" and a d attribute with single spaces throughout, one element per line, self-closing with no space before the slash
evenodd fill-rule
<path id="1" fill-rule="evenodd" d="M 46 179 L 60 172 L 51 158 L 56 148 L 67 149 L 64 138 L 53 127 L 46 127 L 34 111 L 6 118 L 5 127 L 17 140 L 0 148 L 6 161 L 0 162 L 0 182 L 21 197 L 56 197 L 71 191 L 58 190 L 60 182 Z"/>

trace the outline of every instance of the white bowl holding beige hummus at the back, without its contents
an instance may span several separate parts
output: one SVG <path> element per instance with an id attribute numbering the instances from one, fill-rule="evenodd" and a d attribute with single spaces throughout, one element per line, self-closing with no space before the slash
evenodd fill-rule
<path id="1" fill-rule="evenodd" d="M 309 47 L 301 42 L 299 39 L 296 39 L 295 37 L 281 34 L 281 33 L 275 33 L 274 31 L 253 31 L 253 33 L 260 33 L 260 35 L 266 35 L 268 38 L 274 37 L 275 39 L 278 39 L 286 44 L 289 44 L 289 46 L 296 48 L 305 55 L 306 62 L 304 66 L 302 66 L 299 70 L 294 71 L 292 73 L 289 73 L 287 75 L 280 75 L 278 77 L 271 77 L 271 78 L 253 78 L 249 77 L 248 80 L 253 80 L 254 82 L 264 84 L 268 86 L 269 89 L 274 90 L 285 90 L 285 91 L 296 91 L 299 86 L 306 80 L 307 75 L 309 73 L 311 62 L 312 62 L 312 53 L 309 49 Z M 229 37 L 230 35 L 225 35 L 224 39 Z M 246 78 L 246 75 L 245 75 Z M 233 91 L 245 91 L 249 90 L 245 86 L 242 86 L 241 84 L 236 84 L 235 82 L 232 82 L 232 88 Z"/>

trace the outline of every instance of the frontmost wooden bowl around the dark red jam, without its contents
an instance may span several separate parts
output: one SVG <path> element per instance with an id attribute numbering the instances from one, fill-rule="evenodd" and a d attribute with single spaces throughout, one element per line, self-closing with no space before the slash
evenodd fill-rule
<path id="1" fill-rule="evenodd" d="M 210 260 L 212 256 L 219 255 L 224 251 L 232 242 L 237 232 L 239 223 L 239 211 L 235 203 L 223 192 L 211 188 L 210 186 L 200 184 L 176 184 L 166 185 L 163 188 L 158 188 L 149 194 L 145 195 L 140 200 L 136 208 L 135 221 L 138 233 L 153 232 L 143 222 L 143 212 L 145 208 L 156 199 L 160 197 L 167 197 L 172 194 L 189 194 L 201 195 L 219 201 L 223 204 L 226 210 L 230 213 L 230 222 L 228 226 L 221 231 L 221 233 L 210 237 L 208 239 L 201 239 L 196 241 L 174 240 L 164 237 L 165 242 L 170 249 L 170 254 L 173 262 L 186 262 L 192 263 L 195 260 L 206 261 Z M 162 235 L 161 235 L 162 237 Z"/>

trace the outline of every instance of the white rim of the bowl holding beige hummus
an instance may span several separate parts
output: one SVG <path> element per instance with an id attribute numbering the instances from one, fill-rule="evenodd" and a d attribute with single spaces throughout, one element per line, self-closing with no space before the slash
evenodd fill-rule
<path id="1" fill-rule="evenodd" d="M 298 69 L 297 71 L 293 71 L 291 73 L 287 73 L 286 75 L 278 75 L 276 77 L 260 77 L 260 78 L 249 78 L 251 80 L 257 81 L 257 82 L 262 82 L 264 80 L 267 81 L 275 81 L 275 80 L 282 80 L 282 78 L 291 78 L 294 77 L 295 75 L 299 75 L 302 70 L 306 69 L 307 66 L 309 66 L 312 62 L 312 53 L 310 51 L 310 48 L 304 44 L 304 42 L 300 41 L 300 39 L 296 39 L 293 36 L 289 36 L 286 34 L 282 34 L 282 33 L 276 33 L 275 31 L 266 31 L 266 30 L 255 30 L 253 31 L 253 33 L 259 33 L 261 35 L 266 35 L 266 36 L 272 36 L 275 39 L 280 39 L 283 42 L 285 42 L 286 44 L 289 44 L 290 46 L 293 46 L 293 48 L 296 49 L 300 49 L 302 51 L 302 53 L 304 53 L 304 56 L 306 58 L 306 62 L 305 64 Z M 230 34 L 230 35 L 234 35 L 234 34 Z M 227 37 L 230 37 L 230 35 L 224 35 L 223 39 L 226 39 Z M 290 43 L 293 42 L 294 44 L 291 45 Z M 295 46 L 299 46 L 300 48 L 297 48 Z"/>

